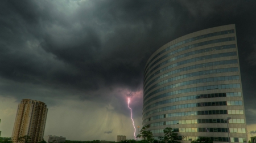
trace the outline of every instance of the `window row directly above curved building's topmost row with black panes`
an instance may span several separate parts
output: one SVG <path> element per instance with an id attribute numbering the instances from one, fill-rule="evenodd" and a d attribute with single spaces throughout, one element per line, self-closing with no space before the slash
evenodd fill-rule
<path id="1" fill-rule="evenodd" d="M 240 88 L 240 87 L 241 87 L 240 84 L 221 84 L 221 85 L 199 86 L 199 87 L 195 87 L 195 88 L 185 88 L 185 89 L 175 90 L 172 92 L 163 93 L 156 97 L 162 98 L 162 97 L 167 97 L 167 96 L 173 96 L 175 94 L 182 94 L 182 93 L 189 93 L 189 92 L 199 92 L 199 91 L 213 90 L 213 89 L 232 89 L 232 88 Z M 146 98 L 144 98 L 144 101 L 149 97 L 150 96 L 147 96 Z"/>

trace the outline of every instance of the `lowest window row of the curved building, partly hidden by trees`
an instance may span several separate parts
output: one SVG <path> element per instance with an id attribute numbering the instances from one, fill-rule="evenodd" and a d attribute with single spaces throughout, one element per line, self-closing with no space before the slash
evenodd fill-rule
<path id="1" fill-rule="evenodd" d="M 158 140 L 158 137 L 153 137 L 154 140 Z M 195 141 L 197 138 L 195 136 L 178 136 L 177 140 L 183 141 Z M 212 141 L 220 141 L 220 142 L 246 142 L 246 138 L 242 137 L 209 137 Z"/>

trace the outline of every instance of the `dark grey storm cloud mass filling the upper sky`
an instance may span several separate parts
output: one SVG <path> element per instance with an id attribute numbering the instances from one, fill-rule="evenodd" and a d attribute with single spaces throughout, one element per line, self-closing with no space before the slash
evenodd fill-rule
<path id="1" fill-rule="evenodd" d="M 234 23 L 247 123 L 255 123 L 249 110 L 256 109 L 255 7 L 249 1 L 1 1 L 0 76 L 24 83 L 18 91 L 6 85 L 1 94 L 32 96 L 40 91 L 33 85 L 54 91 L 40 97 L 122 100 L 129 94 L 112 92 L 142 90 L 145 63 L 160 46 Z M 113 107 L 122 112 L 124 104 Z"/>

